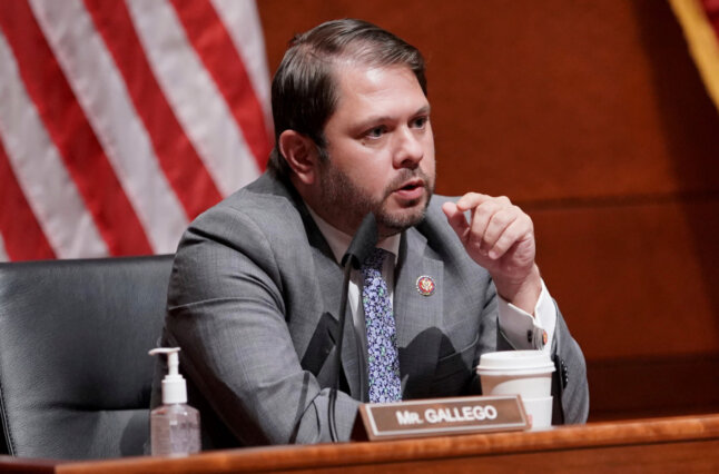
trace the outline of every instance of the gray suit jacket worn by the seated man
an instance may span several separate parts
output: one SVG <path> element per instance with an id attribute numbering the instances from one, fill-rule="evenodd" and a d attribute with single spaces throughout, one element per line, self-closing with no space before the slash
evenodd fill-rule
<path id="1" fill-rule="evenodd" d="M 400 246 L 394 316 L 404 399 L 479 394 L 480 355 L 511 349 L 498 328 L 490 275 L 464 251 L 441 200 L 432 199 L 426 219 L 407 229 Z M 436 285 L 430 297 L 415 287 L 423 275 Z M 302 199 L 270 174 L 190 225 L 173 267 L 161 344 L 181 347 L 204 448 L 329 441 L 328 368 L 342 280 Z M 346 324 L 336 412 L 344 438 L 366 398 L 357 344 Z M 567 422 L 583 422 L 584 359 L 561 316 L 554 345 L 565 363 L 565 377 L 557 377 L 555 421 L 563 414 Z M 161 373 L 158 366 L 154 405 Z"/>

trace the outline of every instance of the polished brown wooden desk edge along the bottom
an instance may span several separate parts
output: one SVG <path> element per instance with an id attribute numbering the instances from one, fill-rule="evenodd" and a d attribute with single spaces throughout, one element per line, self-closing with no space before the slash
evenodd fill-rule
<path id="1" fill-rule="evenodd" d="M 719 415 L 638 419 L 381 443 L 274 446 L 183 458 L 52 462 L 0 456 L 0 471 L 55 473 L 719 472 Z"/>

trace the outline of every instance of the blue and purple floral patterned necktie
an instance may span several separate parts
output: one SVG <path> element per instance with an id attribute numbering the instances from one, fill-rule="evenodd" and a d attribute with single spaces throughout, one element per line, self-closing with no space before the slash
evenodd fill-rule
<path id="1" fill-rule="evenodd" d="M 372 403 L 402 399 L 397 333 L 387 282 L 382 277 L 382 263 L 387 255 L 390 253 L 375 248 L 362 266 L 362 305 L 367 328 L 367 372 Z"/>

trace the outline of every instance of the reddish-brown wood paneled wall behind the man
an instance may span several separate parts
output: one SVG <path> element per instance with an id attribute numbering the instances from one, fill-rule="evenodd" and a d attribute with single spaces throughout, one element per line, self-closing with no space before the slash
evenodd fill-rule
<path id="1" fill-rule="evenodd" d="M 270 71 L 333 18 L 424 52 L 437 190 L 506 195 L 533 217 L 592 418 L 719 411 L 719 113 L 668 4 L 258 4 Z"/>

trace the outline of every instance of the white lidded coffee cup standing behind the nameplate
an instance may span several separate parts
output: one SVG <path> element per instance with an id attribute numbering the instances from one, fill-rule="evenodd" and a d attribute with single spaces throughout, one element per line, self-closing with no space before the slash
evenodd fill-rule
<path id="1" fill-rule="evenodd" d="M 504 350 L 482 354 L 476 367 L 484 395 L 521 395 L 532 428 L 552 423 L 554 364 L 542 350 Z"/>

